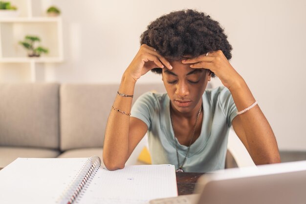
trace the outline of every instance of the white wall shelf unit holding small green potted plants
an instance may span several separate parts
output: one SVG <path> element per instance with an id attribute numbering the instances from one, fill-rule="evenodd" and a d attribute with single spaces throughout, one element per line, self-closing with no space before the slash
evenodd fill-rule
<path id="1" fill-rule="evenodd" d="M 63 62 L 62 18 L 43 16 L 40 3 L 15 0 L 19 17 L 0 18 L 0 82 L 44 81 L 45 66 Z M 27 57 L 27 51 L 19 44 L 26 35 L 39 36 L 40 45 L 49 53 Z"/>

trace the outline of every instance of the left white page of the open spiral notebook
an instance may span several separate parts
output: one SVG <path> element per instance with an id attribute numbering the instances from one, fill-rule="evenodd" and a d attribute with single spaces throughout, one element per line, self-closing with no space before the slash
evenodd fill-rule
<path id="1" fill-rule="evenodd" d="M 0 203 L 55 204 L 87 159 L 16 159 L 0 170 Z"/>

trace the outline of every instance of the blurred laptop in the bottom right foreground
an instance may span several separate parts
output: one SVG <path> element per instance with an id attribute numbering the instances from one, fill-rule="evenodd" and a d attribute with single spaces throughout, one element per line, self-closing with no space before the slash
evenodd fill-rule
<path id="1" fill-rule="evenodd" d="M 306 204 L 306 160 L 207 173 L 194 194 L 150 204 Z"/>

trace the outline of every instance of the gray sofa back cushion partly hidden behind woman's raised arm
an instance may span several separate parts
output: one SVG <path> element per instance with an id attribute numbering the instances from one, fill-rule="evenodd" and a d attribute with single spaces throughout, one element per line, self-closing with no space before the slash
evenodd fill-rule
<path id="1" fill-rule="evenodd" d="M 104 134 L 118 84 L 63 84 L 60 89 L 61 150 L 103 147 Z M 147 91 L 165 92 L 164 85 L 136 84 L 133 102 Z"/>

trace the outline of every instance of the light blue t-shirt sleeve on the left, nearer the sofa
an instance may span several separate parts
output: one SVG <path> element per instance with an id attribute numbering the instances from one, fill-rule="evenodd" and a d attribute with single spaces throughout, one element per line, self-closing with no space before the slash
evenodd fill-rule
<path id="1" fill-rule="evenodd" d="M 146 92 L 138 97 L 131 109 L 131 117 L 136 117 L 147 124 L 148 130 L 151 129 L 156 98 L 152 92 Z"/>

